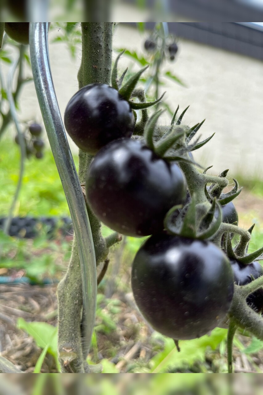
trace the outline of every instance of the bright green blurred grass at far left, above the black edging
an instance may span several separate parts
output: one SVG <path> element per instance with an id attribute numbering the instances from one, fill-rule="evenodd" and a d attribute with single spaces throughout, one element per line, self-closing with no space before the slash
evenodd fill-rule
<path id="1" fill-rule="evenodd" d="M 76 163 L 77 163 L 77 158 Z M 19 177 L 19 147 L 12 140 L 0 144 L 0 216 L 8 213 Z M 51 150 L 44 158 L 25 161 L 23 184 L 14 216 L 69 216 L 68 204 Z"/>

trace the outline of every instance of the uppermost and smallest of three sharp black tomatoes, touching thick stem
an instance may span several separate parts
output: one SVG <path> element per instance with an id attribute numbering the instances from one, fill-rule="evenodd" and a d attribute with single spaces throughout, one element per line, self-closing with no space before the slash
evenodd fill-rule
<path id="1" fill-rule="evenodd" d="M 95 155 L 120 137 L 131 137 L 135 119 L 130 104 L 106 84 L 81 88 L 68 102 L 65 127 L 74 143 Z"/>

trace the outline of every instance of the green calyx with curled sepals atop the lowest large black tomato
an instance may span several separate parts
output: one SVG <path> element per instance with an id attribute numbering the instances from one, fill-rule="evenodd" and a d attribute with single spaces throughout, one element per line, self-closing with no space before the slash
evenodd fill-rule
<path id="1" fill-rule="evenodd" d="M 201 240 L 213 237 L 221 224 L 222 210 L 218 201 L 214 199 L 207 209 L 207 205 L 196 204 L 195 195 L 184 207 L 172 207 L 164 219 L 164 227 L 168 233 Z"/>

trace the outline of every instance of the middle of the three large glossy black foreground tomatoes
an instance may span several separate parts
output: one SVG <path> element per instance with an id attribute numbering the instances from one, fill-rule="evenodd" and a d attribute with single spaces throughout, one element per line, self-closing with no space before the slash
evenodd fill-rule
<path id="1" fill-rule="evenodd" d="M 94 214 L 109 228 L 128 236 L 162 231 L 174 205 L 184 203 L 186 181 L 169 163 L 138 139 L 111 142 L 92 160 L 86 196 Z"/>

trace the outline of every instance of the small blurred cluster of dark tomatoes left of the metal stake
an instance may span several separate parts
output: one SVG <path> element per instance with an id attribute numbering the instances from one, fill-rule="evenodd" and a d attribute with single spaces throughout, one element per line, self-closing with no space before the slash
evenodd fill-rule
<path id="1" fill-rule="evenodd" d="M 29 132 L 29 133 L 28 133 Z M 22 139 L 26 147 L 26 157 L 34 155 L 37 159 L 43 158 L 44 141 L 41 139 L 42 126 L 38 123 L 32 123 L 28 130 L 22 134 Z M 20 145 L 19 135 L 15 136 L 15 143 Z"/>

